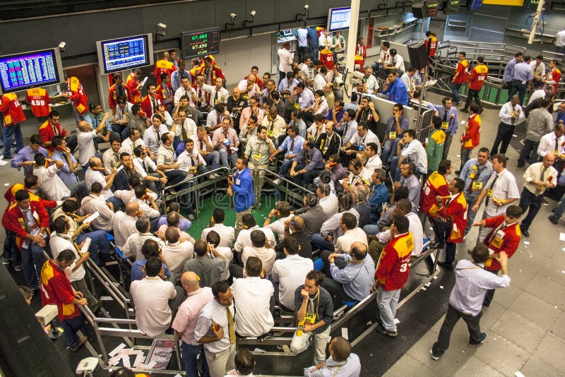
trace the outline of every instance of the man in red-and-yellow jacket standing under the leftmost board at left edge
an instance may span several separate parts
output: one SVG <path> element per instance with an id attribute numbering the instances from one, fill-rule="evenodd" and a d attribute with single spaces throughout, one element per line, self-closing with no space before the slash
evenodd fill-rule
<path id="1" fill-rule="evenodd" d="M 12 136 L 16 138 L 16 153 L 23 148 L 20 123 L 25 121 L 25 115 L 16 93 L 7 93 L 0 97 L 0 112 L 4 116 L 4 160 L 9 160 L 12 158 Z"/>

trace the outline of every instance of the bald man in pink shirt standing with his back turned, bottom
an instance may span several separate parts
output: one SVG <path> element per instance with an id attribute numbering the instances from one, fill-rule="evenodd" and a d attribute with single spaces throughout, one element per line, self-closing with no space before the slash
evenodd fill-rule
<path id="1" fill-rule="evenodd" d="M 210 287 L 200 287 L 198 284 L 199 280 L 200 277 L 192 271 L 182 274 L 182 287 L 189 297 L 179 306 L 177 316 L 172 323 L 177 339 L 182 339 L 182 359 L 184 359 L 186 376 L 198 376 L 198 369 L 196 367 L 198 355 L 200 355 L 200 360 L 202 361 L 202 375 L 210 376 L 204 354 L 204 345 L 194 339 L 194 327 L 196 326 L 198 314 L 214 296 Z"/>

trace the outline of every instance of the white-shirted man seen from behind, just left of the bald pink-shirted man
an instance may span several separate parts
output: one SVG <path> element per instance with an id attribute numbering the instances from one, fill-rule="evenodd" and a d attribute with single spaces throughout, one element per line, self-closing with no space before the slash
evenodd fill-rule
<path id="1" fill-rule="evenodd" d="M 169 300 L 177 297 L 172 282 L 161 279 L 161 261 L 156 256 L 145 263 L 146 276 L 131 282 L 129 294 L 136 309 L 136 324 L 145 335 L 154 337 L 164 333 L 172 320 Z"/>

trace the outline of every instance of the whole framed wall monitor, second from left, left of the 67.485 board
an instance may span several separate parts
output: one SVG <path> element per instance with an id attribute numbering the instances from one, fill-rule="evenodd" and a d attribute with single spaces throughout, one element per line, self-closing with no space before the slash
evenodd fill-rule
<path id="1" fill-rule="evenodd" d="M 96 42 L 100 71 L 114 73 L 153 64 L 151 34 Z"/>

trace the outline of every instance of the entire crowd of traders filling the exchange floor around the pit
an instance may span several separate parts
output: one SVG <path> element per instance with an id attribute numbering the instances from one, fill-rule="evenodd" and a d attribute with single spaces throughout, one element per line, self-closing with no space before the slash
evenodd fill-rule
<path id="1" fill-rule="evenodd" d="M 435 49 L 437 40 L 428 36 Z M 521 237 L 529 236 L 545 191 L 557 185 L 553 165 L 564 160 L 565 106 L 559 105 L 557 120 L 551 115 L 554 83 L 547 75 L 555 78 L 554 70 L 543 73 L 527 65 L 536 72 L 537 90 L 523 109 L 525 65 L 516 56 L 513 70 L 506 67 L 509 101 L 499 112 L 492 150 L 478 148 L 477 93 L 488 68 L 480 56 L 469 75 L 462 52 L 453 98 L 429 104 L 435 113 L 432 132 L 422 143 L 405 116 L 410 98 L 418 96 L 416 70 L 404 72 L 401 58 L 383 42 L 375 69 L 385 71 L 381 92 L 396 104 L 393 114 L 381 119 L 374 102 L 362 96 L 379 90 L 371 67 L 364 68 L 364 80 L 345 104 L 334 85 L 343 74 L 339 65 L 328 68 L 319 61 L 319 49 L 340 52 L 345 42 L 339 35 L 319 35 L 322 39 L 326 44 L 318 47 L 299 46 L 302 64 L 288 59 L 283 44 L 278 83 L 270 73 L 259 78 L 253 66 L 231 92 L 213 56 L 194 59 L 186 70 L 169 51 L 155 64 L 155 83 L 143 87 L 138 69 L 125 83 L 114 74 L 106 113 L 99 103 L 88 102 L 78 79 L 70 77 L 64 95 L 73 102 L 76 136 L 61 126 L 55 110 L 36 114 L 44 119 L 28 147 L 15 132 L 19 141 L 11 166 L 23 169 L 24 176 L 5 194 L 1 261 L 23 270 L 25 285 L 41 292 L 43 304 L 57 304 L 71 350 L 87 341 L 76 335 L 83 323 L 78 306 L 93 312 L 101 306 L 85 282 L 85 263 L 103 265 L 113 258 L 111 233 L 116 248 L 132 261 L 129 294 L 139 330 L 151 337 L 174 331 L 182 340 L 188 376 L 198 376 L 198 367 L 203 376 L 225 376 L 234 368 L 251 373 L 252 355 L 236 352 L 237 337 L 268 335 L 275 305 L 295 314 L 290 352 L 314 347 L 315 365 L 304 376 L 359 376 L 359 358 L 342 337 L 331 340 L 326 359 L 334 309 L 376 291 L 376 330 L 396 337 L 400 291 L 410 263 L 424 248 L 422 221 L 434 229 L 429 247 L 445 249 L 442 268 L 456 271 L 432 357 L 445 352 L 461 316 L 470 345 L 484 342 L 482 307 L 489 306 L 495 288 L 509 285 L 508 258 Z M 357 52 L 364 55 L 361 40 Z M 469 116 L 460 122 L 455 105 L 462 102 L 458 89 L 465 82 L 470 89 L 463 110 Z M 23 112 L 17 96 L 3 95 L 2 104 L 4 119 L 9 114 L 19 127 Z M 520 191 L 504 153 L 522 119 L 528 133 L 518 166 L 528 162 L 529 167 Z M 454 172 L 446 157 L 459 124 L 465 131 L 459 138 L 461 165 Z M 102 143 L 109 148 L 102 150 Z M 5 145 L 8 159 L 11 136 Z M 278 201 L 261 224 L 251 209 L 266 169 L 278 172 L 275 184 L 289 179 L 312 193 L 304 196 L 302 208 Z M 235 227 L 225 224 L 224 209 L 215 208 L 209 226 L 194 234 L 194 201 L 182 191 L 222 174 L 233 197 Z M 160 207 L 163 193 L 177 196 Z M 482 218 L 475 220 L 482 205 Z M 565 196 L 550 220 L 557 222 L 564 209 Z M 456 245 L 473 226 L 480 233 L 472 261 L 456 263 Z"/>

